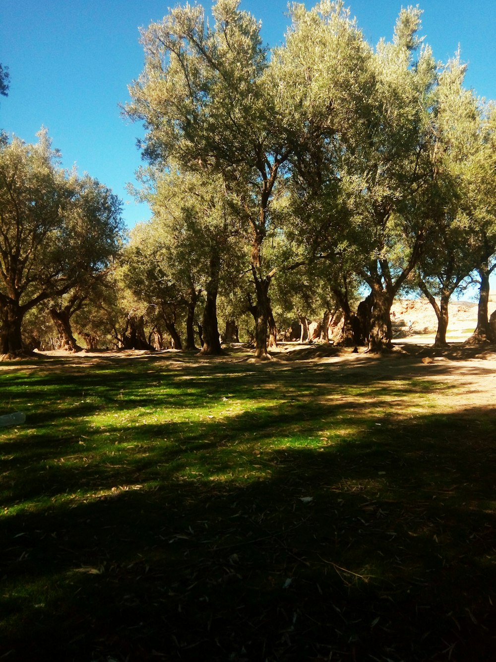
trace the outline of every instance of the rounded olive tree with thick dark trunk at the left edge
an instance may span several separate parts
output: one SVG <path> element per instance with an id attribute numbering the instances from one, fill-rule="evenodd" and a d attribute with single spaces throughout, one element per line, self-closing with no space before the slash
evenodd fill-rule
<path id="1" fill-rule="evenodd" d="M 0 354 L 22 351 L 24 314 L 106 268 L 120 247 L 120 202 L 58 167 L 46 130 L 0 145 Z"/>

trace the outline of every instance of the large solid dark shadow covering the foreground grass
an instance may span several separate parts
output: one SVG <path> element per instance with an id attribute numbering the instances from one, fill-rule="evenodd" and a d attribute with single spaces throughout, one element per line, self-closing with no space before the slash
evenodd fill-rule
<path id="1" fill-rule="evenodd" d="M 355 408 L 345 440 L 263 450 L 281 416 L 309 436 L 331 409 L 315 406 L 305 422 L 300 409 L 294 420 L 277 408 L 241 415 L 222 439 L 207 424 L 212 439 L 182 449 L 203 455 L 196 480 L 158 447 L 134 468 L 147 478 L 161 463 L 159 482 L 131 484 L 132 465 L 101 467 L 95 495 L 5 516 L 1 654 L 492 660 L 495 412 L 372 428 Z M 261 475 L 216 474 L 223 444 L 245 461 L 247 448 L 231 447 L 255 424 L 249 463 Z M 52 477 L 61 491 L 64 471 Z"/>

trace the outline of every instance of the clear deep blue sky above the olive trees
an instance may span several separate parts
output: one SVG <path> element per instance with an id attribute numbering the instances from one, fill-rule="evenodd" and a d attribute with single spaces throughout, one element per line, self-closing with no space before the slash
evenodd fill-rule
<path id="1" fill-rule="evenodd" d="M 415 4 L 415 0 L 413 1 Z M 149 218 L 146 205 L 126 194 L 140 166 L 140 124 L 120 117 L 127 85 L 143 68 L 138 26 L 159 21 L 171 0 L 1 0 L 0 62 L 9 67 L 9 97 L 0 97 L 0 127 L 26 142 L 48 127 L 63 166 L 77 164 L 124 201 L 128 226 Z M 181 3 L 180 3 L 181 4 Z M 306 2 L 307 7 L 314 3 Z M 401 0 L 349 0 L 365 38 L 390 40 Z M 408 5 L 409 2 L 403 3 Z M 496 2 L 424 0 L 426 40 L 446 61 L 460 44 L 469 64 L 466 83 L 496 99 Z M 210 7 L 210 2 L 204 6 Z M 241 8 L 263 24 L 263 38 L 282 44 L 288 25 L 286 0 L 242 0 Z"/>

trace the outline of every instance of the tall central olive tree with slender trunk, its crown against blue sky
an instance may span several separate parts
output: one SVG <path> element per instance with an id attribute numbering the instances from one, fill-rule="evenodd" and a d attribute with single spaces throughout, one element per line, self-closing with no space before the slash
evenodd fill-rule
<path id="1" fill-rule="evenodd" d="M 274 232 L 272 205 L 286 186 L 290 156 L 308 132 L 305 108 L 284 90 L 287 81 L 269 61 L 260 25 L 238 7 L 238 0 L 218 0 L 212 27 L 199 5 L 180 7 L 144 30 L 145 70 L 130 87 L 126 113 L 144 120 L 143 152 L 151 162 L 219 173 L 236 199 L 237 214 L 249 226 L 255 355 L 265 358 L 269 288 L 277 271 L 265 256 Z"/>

